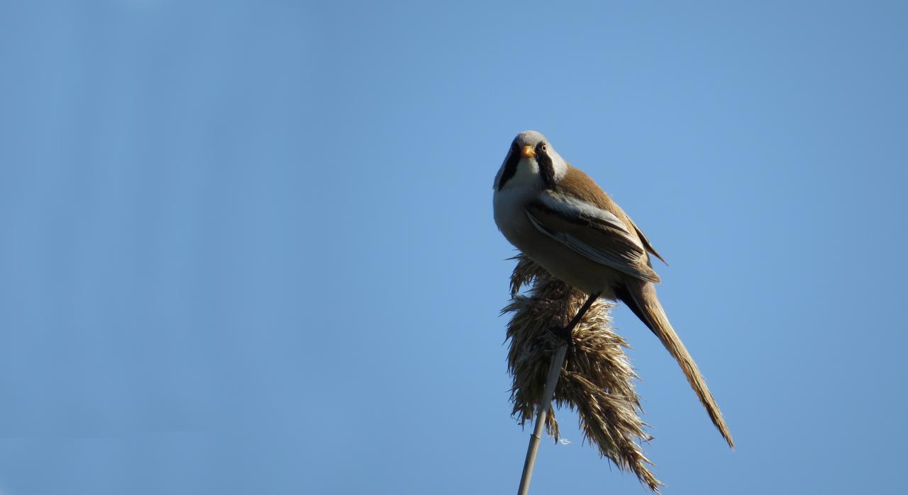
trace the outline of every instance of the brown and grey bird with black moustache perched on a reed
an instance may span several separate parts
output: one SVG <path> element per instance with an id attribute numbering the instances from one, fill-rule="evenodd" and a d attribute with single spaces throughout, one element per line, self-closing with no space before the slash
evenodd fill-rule
<path id="1" fill-rule="evenodd" d="M 495 223 L 508 242 L 589 295 L 585 307 L 597 297 L 627 305 L 676 359 L 716 429 L 734 448 L 703 374 L 656 296 L 660 278 L 650 255 L 665 259 L 634 220 L 538 131 L 520 132 L 511 141 L 493 189 Z"/>

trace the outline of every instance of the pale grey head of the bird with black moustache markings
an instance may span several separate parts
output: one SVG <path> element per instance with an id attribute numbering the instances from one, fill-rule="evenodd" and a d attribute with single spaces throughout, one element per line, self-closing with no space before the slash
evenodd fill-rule
<path id="1" fill-rule="evenodd" d="M 495 177 L 495 189 L 504 189 L 508 182 L 514 186 L 553 188 L 567 169 L 565 160 L 541 132 L 523 131 L 511 141 L 508 156 Z"/>

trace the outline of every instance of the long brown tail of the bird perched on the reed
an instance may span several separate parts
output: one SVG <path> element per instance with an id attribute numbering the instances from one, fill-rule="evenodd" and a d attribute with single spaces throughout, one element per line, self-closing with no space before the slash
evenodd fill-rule
<path id="1" fill-rule="evenodd" d="M 700 398 L 700 403 L 703 403 L 703 407 L 706 408 L 709 418 L 713 420 L 713 424 L 725 437 L 725 442 L 728 442 L 728 446 L 734 448 L 735 441 L 732 440 L 732 434 L 728 431 L 728 426 L 725 425 L 722 412 L 719 411 L 719 406 L 716 404 L 716 400 L 713 399 L 713 394 L 709 392 L 709 387 L 706 386 L 703 374 L 700 374 L 700 369 L 696 367 L 694 358 L 687 352 L 687 348 L 675 333 L 675 329 L 668 323 L 666 312 L 662 309 L 662 305 L 656 297 L 656 287 L 642 280 L 627 281 L 625 286 L 617 287 L 616 295 L 659 337 L 669 354 L 675 357 L 687 377 L 687 382 L 693 387 L 696 396 Z"/>

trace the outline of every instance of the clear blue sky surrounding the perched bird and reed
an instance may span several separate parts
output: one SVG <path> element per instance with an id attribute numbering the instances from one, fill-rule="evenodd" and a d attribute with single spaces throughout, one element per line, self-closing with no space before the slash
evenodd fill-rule
<path id="1" fill-rule="evenodd" d="M 904 471 L 902 2 L 0 7 L 0 493 L 508 493 L 491 183 L 645 229 L 729 451 L 621 307 L 666 493 Z M 545 442 L 533 493 L 643 493 Z"/>

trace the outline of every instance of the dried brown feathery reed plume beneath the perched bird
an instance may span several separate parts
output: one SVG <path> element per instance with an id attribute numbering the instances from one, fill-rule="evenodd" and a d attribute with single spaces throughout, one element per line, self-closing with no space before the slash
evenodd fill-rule
<path id="1" fill-rule="evenodd" d="M 502 314 L 513 313 L 508 323 L 508 371 L 514 378 L 511 402 L 513 414 L 525 424 L 532 421 L 542 401 L 549 363 L 561 344 L 548 329 L 567 324 L 587 296 L 551 277 L 528 257 L 520 254 L 514 259 L 518 264 L 511 275 L 511 303 Z M 521 286 L 530 284 L 527 296 L 518 294 Z M 637 374 L 622 349 L 627 343 L 611 329 L 612 306 L 598 299 L 574 329 L 555 402 L 577 411 L 584 439 L 595 444 L 600 455 L 658 492 L 662 483 L 647 469 L 653 463 L 638 444 L 652 437 L 644 432 L 646 423 L 638 415 L 640 401 L 633 384 Z M 558 440 L 554 408 L 546 429 Z"/>

